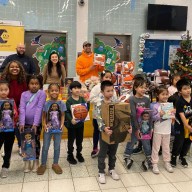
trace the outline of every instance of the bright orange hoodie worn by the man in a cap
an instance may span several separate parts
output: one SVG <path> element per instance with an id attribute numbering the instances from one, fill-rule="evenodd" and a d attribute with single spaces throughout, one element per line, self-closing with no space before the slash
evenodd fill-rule
<path id="1" fill-rule="evenodd" d="M 97 65 L 94 70 L 90 70 L 93 65 L 94 53 L 88 55 L 82 51 L 82 55 L 77 58 L 76 72 L 80 77 L 81 82 L 89 79 L 91 76 L 99 76 L 99 72 L 104 70 L 103 66 Z"/>

